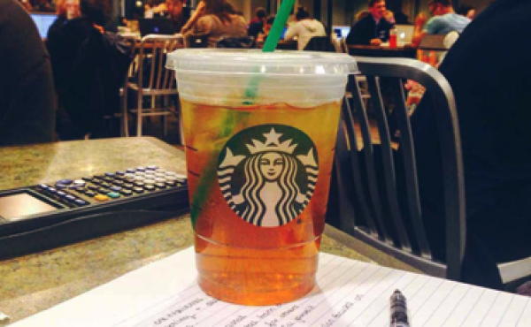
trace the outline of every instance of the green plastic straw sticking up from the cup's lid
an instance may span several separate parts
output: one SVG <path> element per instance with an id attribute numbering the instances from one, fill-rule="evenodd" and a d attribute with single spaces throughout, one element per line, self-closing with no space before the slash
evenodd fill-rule
<path id="1" fill-rule="evenodd" d="M 291 8 L 293 8 L 294 5 L 295 0 L 282 1 L 281 8 L 279 9 L 279 12 L 274 18 L 273 26 L 269 31 L 269 35 L 267 35 L 266 44 L 264 44 L 262 52 L 273 52 L 274 49 L 276 49 L 277 44 L 279 44 L 279 41 L 281 40 L 282 30 L 288 22 L 289 13 L 291 12 Z M 245 97 L 249 100 L 244 101 L 244 105 L 253 104 L 252 99 L 257 97 L 259 81 L 260 79 L 258 77 L 250 79 L 249 87 L 247 87 L 247 89 L 245 90 Z"/>

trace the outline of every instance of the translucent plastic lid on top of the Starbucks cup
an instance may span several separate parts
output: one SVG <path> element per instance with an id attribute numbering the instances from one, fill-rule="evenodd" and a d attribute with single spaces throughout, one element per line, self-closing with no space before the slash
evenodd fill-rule
<path id="1" fill-rule="evenodd" d="M 178 49 L 166 68 L 180 72 L 275 76 L 346 76 L 358 73 L 354 57 L 313 51 L 262 52 L 259 49 Z M 308 76 L 309 77 L 309 76 Z"/>

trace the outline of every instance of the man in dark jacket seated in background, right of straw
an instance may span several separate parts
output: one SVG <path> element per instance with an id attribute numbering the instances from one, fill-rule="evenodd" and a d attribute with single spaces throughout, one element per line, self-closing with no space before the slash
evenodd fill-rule
<path id="1" fill-rule="evenodd" d="M 386 7 L 384 0 L 369 1 L 370 15 L 358 20 L 347 36 L 347 44 L 380 45 L 389 40 L 389 30 L 393 27 L 384 18 Z"/>

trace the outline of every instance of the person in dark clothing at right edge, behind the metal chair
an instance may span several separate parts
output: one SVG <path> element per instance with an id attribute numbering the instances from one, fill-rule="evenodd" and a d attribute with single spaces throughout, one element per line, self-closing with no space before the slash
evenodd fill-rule
<path id="1" fill-rule="evenodd" d="M 496 262 L 531 255 L 531 44 L 521 42 L 529 11 L 529 1 L 491 4 L 439 67 L 455 96 L 465 172 L 464 282 L 492 288 L 502 287 Z M 428 240 L 441 258 L 444 181 L 435 111 L 427 93 L 412 115 L 412 133 Z"/>

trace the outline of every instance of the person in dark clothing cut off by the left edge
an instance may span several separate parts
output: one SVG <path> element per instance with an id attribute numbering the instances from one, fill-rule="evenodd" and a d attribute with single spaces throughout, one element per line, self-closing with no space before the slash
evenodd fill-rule
<path id="1" fill-rule="evenodd" d="M 54 141 L 50 57 L 37 27 L 15 0 L 0 0 L 0 26 L 0 146 Z"/>

